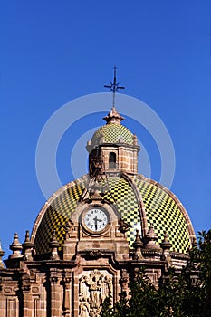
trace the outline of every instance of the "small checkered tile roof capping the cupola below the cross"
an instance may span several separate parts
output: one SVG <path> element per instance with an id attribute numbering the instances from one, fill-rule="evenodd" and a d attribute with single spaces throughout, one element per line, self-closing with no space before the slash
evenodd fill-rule
<path id="1" fill-rule="evenodd" d="M 91 141 L 93 144 L 99 144 L 99 140 L 103 135 L 104 143 L 118 143 L 119 139 L 122 138 L 124 143 L 132 144 L 132 133 L 128 128 L 121 124 L 110 123 L 102 126 L 97 130 Z"/>

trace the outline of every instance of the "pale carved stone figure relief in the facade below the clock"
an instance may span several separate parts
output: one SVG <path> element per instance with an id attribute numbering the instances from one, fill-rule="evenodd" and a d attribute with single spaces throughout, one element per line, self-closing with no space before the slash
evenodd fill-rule
<path id="1" fill-rule="evenodd" d="M 112 275 L 107 271 L 93 270 L 79 279 L 79 317 L 99 317 L 101 303 L 113 297 Z"/>

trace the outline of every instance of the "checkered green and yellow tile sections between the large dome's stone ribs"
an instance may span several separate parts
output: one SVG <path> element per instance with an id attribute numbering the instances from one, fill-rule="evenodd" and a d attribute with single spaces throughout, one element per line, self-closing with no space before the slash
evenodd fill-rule
<path id="1" fill-rule="evenodd" d="M 108 183 L 109 190 L 106 192 L 105 198 L 111 203 L 117 204 L 122 218 L 131 225 L 128 240 L 129 245 L 132 245 L 136 224 L 140 223 L 137 199 L 124 178 L 110 177 Z M 148 225 L 150 222 L 153 224 L 155 232 L 158 234 L 158 242 L 162 241 L 164 232 L 167 231 L 169 241 L 172 244 L 171 250 L 187 253 L 190 246 L 187 223 L 176 201 L 163 189 L 151 184 L 146 179 L 137 178 L 136 185 L 144 202 Z M 50 251 L 48 245 L 53 230 L 55 230 L 62 247 L 64 238 L 62 226 L 74 211 L 84 187 L 85 182 L 82 179 L 72 182 L 72 187 L 64 189 L 58 197 L 54 198 L 52 205 L 46 210 L 35 236 L 34 247 L 37 254 Z"/>

